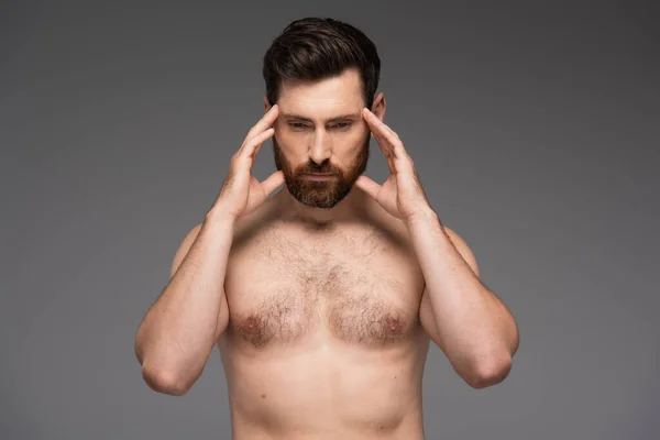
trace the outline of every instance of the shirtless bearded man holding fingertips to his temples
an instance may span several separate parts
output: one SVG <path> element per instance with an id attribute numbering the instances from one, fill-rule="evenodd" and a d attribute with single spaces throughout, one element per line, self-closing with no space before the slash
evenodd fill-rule
<path id="1" fill-rule="evenodd" d="M 378 72 L 371 41 L 338 21 L 300 20 L 273 42 L 265 114 L 138 331 L 145 382 L 175 396 L 218 346 L 233 439 L 422 439 L 429 341 L 474 388 L 510 370 L 514 318 L 383 123 Z M 383 186 L 362 175 L 370 135 Z M 260 183 L 268 139 L 277 172 Z"/>

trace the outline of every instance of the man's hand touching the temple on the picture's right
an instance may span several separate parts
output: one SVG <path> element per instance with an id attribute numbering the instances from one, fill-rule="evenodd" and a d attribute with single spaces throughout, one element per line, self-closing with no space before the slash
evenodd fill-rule
<path id="1" fill-rule="evenodd" d="M 366 176 L 360 176 L 355 180 L 355 186 L 372 196 L 391 216 L 404 222 L 418 213 L 427 212 L 431 207 L 419 182 L 415 164 L 399 136 L 369 109 L 364 108 L 362 116 L 387 160 L 389 176 L 383 185 L 376 184 Z"/>

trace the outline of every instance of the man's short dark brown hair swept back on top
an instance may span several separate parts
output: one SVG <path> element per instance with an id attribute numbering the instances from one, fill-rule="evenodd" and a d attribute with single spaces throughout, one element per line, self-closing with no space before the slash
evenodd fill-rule
<path id="1" fill-rule="evenodd" d="M 381 75 L 374 43 L 359 29 L 334 19 L 305 18 L 289 23 L 264 55 L 266 98 L 277 102 L 285 80 L 317 80 L 354 67 L 371 108 Z"/>

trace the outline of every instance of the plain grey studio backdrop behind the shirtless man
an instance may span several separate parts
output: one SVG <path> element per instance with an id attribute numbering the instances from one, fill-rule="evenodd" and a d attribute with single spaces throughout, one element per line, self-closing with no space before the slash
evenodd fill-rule
<path id="1" fill-rule="evenodd" d="M 658 8 L 422 4 L 2 2 L 0 438 L 229 438 L 217 351 L 172 397 L 133 341 L 305 15 L 377 44 L 385 122 L 520 326 L 482 391 L 431 346 L 427 437 L 659 438 Z"/>

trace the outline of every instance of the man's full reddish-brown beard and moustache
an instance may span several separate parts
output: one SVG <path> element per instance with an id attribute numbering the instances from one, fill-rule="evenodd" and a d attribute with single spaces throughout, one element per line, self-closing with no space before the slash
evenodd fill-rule
<path id="1" fill-rule="evenodd" d="M 339 204 L 351 193 L 353 184 L 366 170 L 369 161 L 370 136 L 358 151 L 358 156 L 345 172 L 330 164 L 328 161 L 318 165 L 314 162 L 302 164 L 296 168 L 286 160 L 275 136 L 273 153 L 277 170 L 284 173 L 284 183 L 288 191 L 300 204 L 310 208 L 330 209 Z M 310 180 L 306 173 L 329 173 L 333 178 L 329 180 Z"/>

